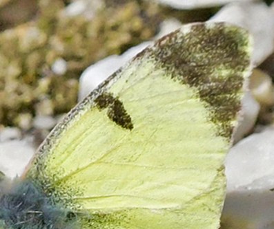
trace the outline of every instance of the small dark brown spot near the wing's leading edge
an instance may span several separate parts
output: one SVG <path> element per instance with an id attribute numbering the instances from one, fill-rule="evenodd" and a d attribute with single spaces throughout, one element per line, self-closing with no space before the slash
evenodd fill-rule
<path id="1" fill-rule="evenodd" d="M 133 129 L 133 122 L 131 122 L 131 118 L 126 112 L 123 103 L 118 98 L 113 97 L 109 93 L 102 93 L 95 99 L 95 103 L 99 109 L 108 108 L 108 118 L 110 120 L 125 129 Z"/>

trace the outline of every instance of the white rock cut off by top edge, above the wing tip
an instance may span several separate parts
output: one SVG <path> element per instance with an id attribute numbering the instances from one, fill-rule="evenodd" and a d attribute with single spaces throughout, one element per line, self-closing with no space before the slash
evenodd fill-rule
<path id="1" fill-rule="evenodd" d="M 253 0 L 157 0 L 166 6 L 176 9 L 195 9 L 213 6 L 222 6 L 232 2 L 250 2 Z"/>

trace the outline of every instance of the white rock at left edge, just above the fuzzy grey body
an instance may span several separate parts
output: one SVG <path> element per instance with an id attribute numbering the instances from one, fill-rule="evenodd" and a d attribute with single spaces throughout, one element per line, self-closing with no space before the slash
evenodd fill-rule
<path id="1" fill-rule="evenodd" d="M 0 143 L 0 171 L 7 177 L 20 176 L 35 153 L 32 140 L 12 140 Z"/>

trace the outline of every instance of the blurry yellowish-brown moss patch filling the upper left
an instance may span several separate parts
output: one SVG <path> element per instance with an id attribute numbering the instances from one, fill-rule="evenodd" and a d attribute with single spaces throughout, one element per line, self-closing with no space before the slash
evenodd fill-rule
<path id="1" fill-rule="evenodd" d="M 0 33 L 0 123 L 22 125 L 22 117 L 58 115 L 77 102 L 78 78 L 90 64 L 152 37 L 160 21 L 155 3 L 108 4 L 88 20 L 68 17 L 64 1 L 39 0 L 39 14 Z M 51 70 L 57 58 L 67 71 Z"/>

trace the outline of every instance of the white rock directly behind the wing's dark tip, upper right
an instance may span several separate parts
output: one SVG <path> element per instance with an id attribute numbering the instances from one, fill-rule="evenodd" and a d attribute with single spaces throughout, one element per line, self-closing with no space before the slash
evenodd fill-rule
<path id="1" fill-rule="evenodd" d="M 252 63 L 255 66 L 274 50 L 274 11 L 264 3 L 232 3 L 209 21 L 226 21 L 248 29 L 254 39 Z"/>

